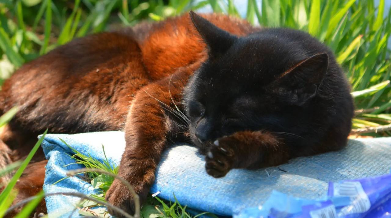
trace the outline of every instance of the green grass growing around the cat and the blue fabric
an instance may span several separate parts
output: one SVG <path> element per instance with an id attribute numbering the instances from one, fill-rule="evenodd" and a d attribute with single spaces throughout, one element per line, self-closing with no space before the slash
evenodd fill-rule
<path id="1" fill-rule="evenodd" d="M 262 9 L 258 10 L 260 4 Z M 133 26 L 143 19 L 160 21 L 205 5 L 215 12 L 240 14 L 233 0 L 0 0 L 0 87 L 24 63 L 75 37 Z M 248 0 L 244 16 L 250 23 L 265 27 L 289 27 L 309 32 L 328 45 L 352 84 L 357 107 L 352 133 L 391 136 L 391 9 L 386 11 L 384 5 L 385 0 L 380 0 L 378 6 L 374 0 Z M 0 117 L 0 127 L 17 110 L 13 108 Z M 39 143 L 30 152 L 30 159 Z M 29 158 L 0 172 L 3 175 L 19 167 L 0 194 L 0 218 L 15 197 L 13 186 Z M 110 164 L 96 163 L 89 156 L 72 158 L 86 167 L 116 172 Z M 103 192 L 113 180 L 102 174 L 87 175 Z M 27 217 L 42 197 L 43 193 L 39 193 L 18 217 Z M 103 199 L 103 195 L 95 197 Z M 190 216 L 177 200 L 173 204 L 159 200 L 149 199 L 149 204 L 142 210 L 144 217 Z"/>

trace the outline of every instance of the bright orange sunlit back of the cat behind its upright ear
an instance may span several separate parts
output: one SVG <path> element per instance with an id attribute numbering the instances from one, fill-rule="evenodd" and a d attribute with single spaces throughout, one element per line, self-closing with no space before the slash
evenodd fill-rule
<path id="1" fill-rule="evenodd" d="M 244 19 L 224 14 L 201 14 L 214 25 L 233 35 L 244 36 L 259 31 Z M 203 40 L 188 14 L 160 23 L 143 23 L 133 28 L 142 50 L 143 63 L 152 78 L 172 74 L 176 69 L 206 56 Z"/>

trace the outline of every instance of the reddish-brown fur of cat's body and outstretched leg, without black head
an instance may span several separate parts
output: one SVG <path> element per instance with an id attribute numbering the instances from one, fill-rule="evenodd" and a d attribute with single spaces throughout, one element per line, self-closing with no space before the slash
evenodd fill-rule
<path id="1" fill-rule="evenodd" d="M 256 31 L 240 19 L 204 17 L 235 35 Z M 167 135 L 185 132 L 169 119 L 162 104 L 172 106 L 171 97 L 179 104 L 188 76 L 205 58 L 205 44 L 188 15 L 76 39 L 25 64 L 4 83 L 2 112 L 14 105 L 21 108 L 7 134 L 23 134 L 2 139 L 13 150 L 28 151 L 31 139 L 46 128 L 50 133 L 124 129 L 127 146 L 119 175 L 145 199 Z M 271 135 L 262 137 L 273 141 Z M 18 199 L 41 187 L 43 162 L 36 166 L 35 175 L 18 183 Z M 106 198 L 127 211 L 134 209 L 129 191 L 118 180 Z"/>

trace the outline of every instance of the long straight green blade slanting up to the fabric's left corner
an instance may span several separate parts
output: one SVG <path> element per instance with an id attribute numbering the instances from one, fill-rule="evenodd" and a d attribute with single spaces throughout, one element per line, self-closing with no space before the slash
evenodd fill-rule
<path id="1" fill-rule="evenodd" d="M 27 158 L 23 160 L 22 165 L 16 170 L 14 176 L 12 177 L 11 181 L 9 181 L 8 185 L 5 187 L 5 189 L 0 194 L 0 202 L 6 202 L 9 200 L 9 195 L 11 191 L 13 190 L 16 182 L 18 181 L 19 177 L 22 175 L 23 171 L 27 167 L 27 165 L 30 163 L 30 160 L 34 156 L 35 152 L 38 150 L 39 146 L 41 145 L 43 138 L 45 138 L 46 133 L 48 130 L 46 130 L 41 138 L 39 138 L 38 142 L 34 145 L 34 147 L 31 149 L 29 155 L 27 155 Z"/>

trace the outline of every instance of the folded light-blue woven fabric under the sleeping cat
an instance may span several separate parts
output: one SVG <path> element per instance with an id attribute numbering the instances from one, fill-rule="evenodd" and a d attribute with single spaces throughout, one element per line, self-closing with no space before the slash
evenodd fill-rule
<path id="1" fill-rule="evenodd" d="M 46 193 L 78 191 L 97 193 L 90 183 L 78 177 L 66 177 L 67 170 L 82 168 L 71 164 L 74 154 L 70 147 L 82 154 L 104 161 L 104 145 L 110 163 L 118 165 L 125 148 L 124 133 L 118 131 L 75 135 L 48 134 L 42 147 L 48 164 L 43 189 Z M 260 170 L 231 170 L 225 177 L 215 179 L 206 174 L 204 156 L 189 145 L 173 145 L 162 155 L 151 193 L 161 199 L 174 200 L 182 205 L 215 214 L 235 216 L 246 209 L 258 208 L 273 190 L 292 197 L 327 199 L 329 181 L 359 179 L 388 174 L 391 167 L 391 138 L 349 140 L 338 152 L 296 158 L 278 167 Z M 56 183 L 57 181 L 60 182 Z M 54 184 L 56 183 L 56 184 Z M 48 213 L 70 215 L 79 202 L 76 197 L 63 195 L 45 198 Z M 78 217 L 78 213 L 73 213 Z M 241 216 L 244 217 L 244 216 Z"/>

